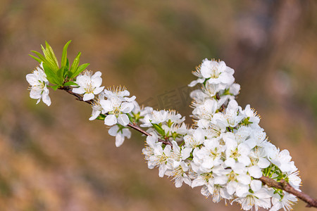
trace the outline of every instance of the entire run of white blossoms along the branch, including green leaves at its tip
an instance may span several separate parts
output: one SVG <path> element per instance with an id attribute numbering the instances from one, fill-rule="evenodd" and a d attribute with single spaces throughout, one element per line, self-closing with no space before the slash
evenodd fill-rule
<path id="1" fill-rule="evenodd" d="M 77 68 L 72 65 L 68 71 L 63 58 L 65 68 L 41 59 L 46 64 L 26 76 L 31 98 L 50 106 L 48 87 L 69 91 L 92 106 L 89 120 L 103 120 L 108 133 L 116 137 L 117 147 L 130 139 L 130 128 L 142 131 L 147 135 L 142 153 L 148 167 L 159 168 L 159 177 L 170 177 L 176 187 L 199 187 L 213 202 L 240 203 L 243 210 L 291 210 L 297 201 L 292 194 L 259 180 L 263 176 L 284 180 L 297 190 L 301 184 L 290 153 L 268 141 L 259 116 L 249 105 L 242 108 L 235 101 L 240 85 L 235 83 L 234 70 L 223 61 L 205 59 L 193 72 L 197 79 L 189 87 L 200 87 L 190 94 L 194 124 L 189 127 L 175 110 L 139 106 L 125 87 L 104 89 L 101 72 L 93 75 L 85 70 L 88 64 L 78 67 L 74 61 Z M 49 82 L 56 85 L 49 86 Z"/>

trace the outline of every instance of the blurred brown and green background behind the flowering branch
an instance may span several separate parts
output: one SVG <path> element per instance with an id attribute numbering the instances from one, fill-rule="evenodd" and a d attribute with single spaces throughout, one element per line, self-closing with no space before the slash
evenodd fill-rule
<path id="1" fill-rule="evenodd" d="M 187 84 L 204 58 L 225 60 L 261 127 L 317 197 L 317 1 L 0 1 L 0 210 L 239 210 L 175 188 L 147 169 L 144 136 L 116 148 L 91 108 L 63 91 L 36 105 L 27 56 L 49 41 L 58 58 L 100 70 L 137 101 L 188 115 Z M 299 202 L 294 210 L 311 210 Z"/>

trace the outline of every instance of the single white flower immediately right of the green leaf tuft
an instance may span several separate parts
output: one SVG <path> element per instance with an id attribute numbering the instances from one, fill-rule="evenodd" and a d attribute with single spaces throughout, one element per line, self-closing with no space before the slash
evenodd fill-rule
<path id="1" fill-rule="evenodd" d="M 82 98 L 83 101 L 92 100 L 95 94 L 99 94 L 104 90 L 104 87 L 100 87 L 102 83 L 100 71 L 92 75 L 92 71 L 85 70 L 77 76 L 76 83 L 79 87 L 73 88 L 73 92 L 76 94 L 84 94 L 84 98 Z"/>

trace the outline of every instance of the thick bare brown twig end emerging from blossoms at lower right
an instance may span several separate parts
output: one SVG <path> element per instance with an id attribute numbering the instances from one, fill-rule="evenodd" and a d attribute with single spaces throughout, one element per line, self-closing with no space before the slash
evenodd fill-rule
<path id="1" fill-rule="evenodd" d="M 306 207 L 317 207 L 317 199 L 311 198 L 311 196 L 308 196 L 306 193 L 297 191 L 295 188 L 290 186 L 289 183 L 285 180 L 281 180 L 280 182 L 275 181 L 274 179 L 271 179 L 269 177 L 262 176 L 259 178 L 264 184 L 271 186 L 273 188 L 278 188 L 283 191 L 286 191 L 287 193 L 292 193 L 294 196 L 297 196 L 299 199 L 303 200 L 307 203 Z"/>

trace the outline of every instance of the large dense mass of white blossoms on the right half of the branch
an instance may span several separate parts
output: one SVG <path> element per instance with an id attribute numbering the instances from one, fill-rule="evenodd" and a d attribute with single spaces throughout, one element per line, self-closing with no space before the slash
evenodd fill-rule
<path id="1" fill-rule="evenodd" d="M 149 168 L 159 168 L 160 177 L 172 177 L 176 187 L 199 186 L 201 194 L 214 202 L 240 203 L 243 210 L 290 210 L 297 198 L 262 184 L 259 178 L 284 179 L 299 189 L 297 167 L 287 150 L 280 151 L 268 141 L 254 110 L 238 106 L 235 96 L 240 85 L 234 83 L 233 72 L 223 61 L 203 60 L 194 72 L 198 79 L 189 84 L 201 84 L 190 94 L 194 125 L 184 127 L 182 140 L 171 140 L 171 146 L 159 141 L 169 128 L 156 129 L 147 137 L 145 159 Z M 166 116 L 162 111 L 149 114 L 144 117 L 147 124 L 141 126 L 166 125 Z"/>

